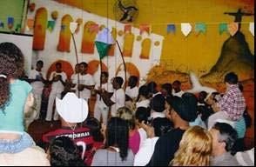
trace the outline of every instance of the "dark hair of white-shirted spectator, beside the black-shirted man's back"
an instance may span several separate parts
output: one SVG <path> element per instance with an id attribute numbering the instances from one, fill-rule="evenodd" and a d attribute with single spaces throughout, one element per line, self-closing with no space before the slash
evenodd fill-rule
<path id="1" fill-rule="evenodd" d="M 152 120 L 152 126 L 155 130 L 155 136 L 161 137 L 169 130 L 172 130 L 173 123 L 166 117 L 157 117 Z"/>

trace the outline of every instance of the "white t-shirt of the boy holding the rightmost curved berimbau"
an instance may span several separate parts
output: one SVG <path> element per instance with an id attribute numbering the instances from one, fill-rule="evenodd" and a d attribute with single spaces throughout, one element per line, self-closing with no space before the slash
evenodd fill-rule
<path id="1" fill-rule="evenodd" d="M 119 90 L 114 90 L 114 93 L 111 97 L 111 101 L 115 104 L 111 105 L 111 116 L 116 116 L 117 110 L 120 107 L 125 106 L 125 90 L 120 88 Z"/>

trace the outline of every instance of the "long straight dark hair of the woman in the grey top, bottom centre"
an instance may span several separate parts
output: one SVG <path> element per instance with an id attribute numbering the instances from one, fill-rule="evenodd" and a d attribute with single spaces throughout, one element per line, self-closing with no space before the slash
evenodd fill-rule
<path id="1" fill-rule="evenodd" d="M 105 147 L 117 144 L 120 149 L 120 157 L 124 161 L 128 155 L 129 128 L 125 120 L 119 117 L 111 117 L 106 128 Z"/>

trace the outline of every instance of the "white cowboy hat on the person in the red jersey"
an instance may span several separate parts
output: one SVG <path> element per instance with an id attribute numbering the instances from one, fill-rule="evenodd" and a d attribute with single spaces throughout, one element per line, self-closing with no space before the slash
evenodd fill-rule
<path id="1" fill-rule="evenodd" d="M 68 123 L 82 123 L 88 116 L 88 104 L 75 93 L 67 93 L 61 100 L 56 97 L 57 113 Z"/>

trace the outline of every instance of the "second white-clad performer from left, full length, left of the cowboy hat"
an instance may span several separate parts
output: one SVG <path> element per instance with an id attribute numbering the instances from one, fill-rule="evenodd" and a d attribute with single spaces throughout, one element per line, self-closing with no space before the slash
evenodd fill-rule
<path id="1" fill-rule="evenodd" d="M 52 108 L 55 102 L 55 98 L 61 97 L 61 92 L 64 90 L 64 81 L 67 79 L 67 75 L 64 73 L 64 71 L 61 70 L 61 63 L 56 63 L 55 67 L 56 71 L 51 72 L 51 76 L 49 78 L 50 83 L 52 84 L 45 121 L 51 121 L 53 110 Z M 58 115 L 57 111 L 55 110 L 53 120 L 57 121 L 57 119 Z"/>

